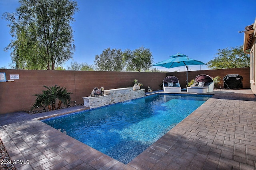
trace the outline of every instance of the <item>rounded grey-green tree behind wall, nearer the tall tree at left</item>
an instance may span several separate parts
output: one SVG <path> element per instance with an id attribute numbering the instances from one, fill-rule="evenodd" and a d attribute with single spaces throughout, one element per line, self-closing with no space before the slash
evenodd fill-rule
<path id="1" fill-rule="evenodd" d="M 122 51 L 121 49 L 110 49 L 108 47 L 102 51 L 101 55 L 96 55 L 94 64 L 100 71 L 122 71 Z"/>

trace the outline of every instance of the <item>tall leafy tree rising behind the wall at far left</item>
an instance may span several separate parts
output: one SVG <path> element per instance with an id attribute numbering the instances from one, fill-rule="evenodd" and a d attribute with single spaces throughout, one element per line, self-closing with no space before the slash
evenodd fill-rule
<path id="1" fill-rule="evenodd" d="M 70 22 L 78 10 L 72 0 L 20 0 L 15 13 L 4 13 L 14 40 L 11 50 L 16 69 L 54 70 L 72 58 L 75 46 Z"/>

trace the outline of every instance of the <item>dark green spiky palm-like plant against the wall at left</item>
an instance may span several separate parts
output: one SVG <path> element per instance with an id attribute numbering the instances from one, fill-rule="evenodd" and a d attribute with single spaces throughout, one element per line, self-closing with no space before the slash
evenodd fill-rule
<path id="1" fill-rule="evenodd" d="M 66 91 L 66 88 L 62 87 L 60 88 L 60 86 L 52 86 L 52 87 L 47 87 L 44 86 L 47 90 L 42 90 L 42 94 L 34 94 L 33 96 L 37 96 L 36 98 L 36 102 L 34 103 L 34 105 L 31 107 L 31 109 L 35 109 L 35 108 L 39 108 L 39 107 L 47 107 L 48 106 L 48 110 L 55 110 L 55 106 L 56 106 L 56 100 L 59 100 L 58 103 L 58 108 L 60 109 L 60 106 L 63 102 L 64 105 L 68 104 L 70 102 L 70 94 Z M 52 105 L 52 107 L 51 107 Z"/>

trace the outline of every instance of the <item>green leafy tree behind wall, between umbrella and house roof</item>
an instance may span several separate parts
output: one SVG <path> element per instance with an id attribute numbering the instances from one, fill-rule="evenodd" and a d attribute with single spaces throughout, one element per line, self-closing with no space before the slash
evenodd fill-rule
<path id="1" fill-rule="evenodd" d="M 250 67 L 250 55 L 244 53 L 243 46 L 231 47 L 231 49 L 218 49 L 217 57 L 210 60 L 207 64 L 208 68 L 241 68 Z"/>

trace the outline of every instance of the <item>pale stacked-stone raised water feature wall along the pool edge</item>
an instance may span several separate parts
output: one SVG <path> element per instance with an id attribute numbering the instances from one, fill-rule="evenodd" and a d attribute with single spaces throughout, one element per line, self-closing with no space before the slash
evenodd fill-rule
<path id="1" fill-rule="evenodd" d="M 115 104 L 136 98 L 142 98 L 144 95 L 144 89 L 134 91 L 132 87 L 104 90 L 104 96 L 83 98 L 84 107 L 90 107 L 90 109 L 92 109 L 95 107 L 106 106 L 109 104 Z"/>

